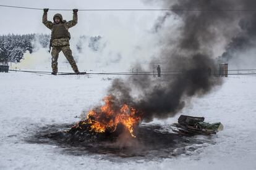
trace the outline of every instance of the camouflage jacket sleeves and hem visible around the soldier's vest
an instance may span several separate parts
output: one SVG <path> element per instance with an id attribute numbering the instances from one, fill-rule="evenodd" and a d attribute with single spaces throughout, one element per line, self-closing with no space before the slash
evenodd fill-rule
<path id="1" fill-rule="evenodd" d="M 60 15 L 60 14 L 59 14 Z M 61 22 L 64 24 L 65 28 L 69 30 L 72 26 L 75 26 L 77 24 L 77 13 L 74 12 L 73 14 L 73 20 L 70 20 L 69 22 L 66 22 L 65 20 L 62 20 L 61 16 Z M 47 13 L 44 12 L 43 14 L 43 24 L 49 28 L 51 31 L 53 31 L 53 22 L 47 20 Z M 58 38 L 58 39 L 52 39 L 51 41 L 52 46 L 66 46 L 69 45 L 69 38 Z"/>

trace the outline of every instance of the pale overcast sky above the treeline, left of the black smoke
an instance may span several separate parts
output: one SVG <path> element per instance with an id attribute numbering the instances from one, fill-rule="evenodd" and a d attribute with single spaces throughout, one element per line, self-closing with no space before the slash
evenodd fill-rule
<path id="1" fill-rule="evenodd" d="M 94 0 L 94 1 L 61 1 L 61 0 L 1 0 L 0 4 L 7 6 L 23 6 L 35 8 L 49 8 L 49 9 L 140 9 L 140 8 L 154 8 L 159 6 L 152 6 L 152 4 L 145 4 L 140 0 Z M 0 7 L 0 34 L 8 33 L 49 33 L 49 30 L 41 23 L 43 11 L 17 9 L 9 7 Z M 49 11 L 48 20 L 56 13 L 61 13 L 64 19 L 72 19 L 71 11 Z M 127 29 L 137 29 L 145 26 L 150 26 L 154 22 L 160 12 L 134 12 L 134 11 L 80 11 L 79 24 L 70 30 L 71 32 L 79 31 L 80 34 L 102 34 L 105 28 L 109 26 L 115 27 L 121 25 Z M 144 27 L 144 28 L 145 28 Z M 108 30 L 108 29 L 106 29 Z"/>

